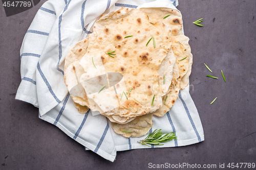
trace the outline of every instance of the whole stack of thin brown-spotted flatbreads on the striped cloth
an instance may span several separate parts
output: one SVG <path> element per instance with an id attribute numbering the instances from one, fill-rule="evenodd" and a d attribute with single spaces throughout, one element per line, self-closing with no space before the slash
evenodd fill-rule
<path id="1" fill-rule="evenodd" d="M 165 17 L 168 16 L 168 17 Z M 188 85 L 192 54 L 182 16 L 169 8 L 121 8 L 102 15 L 65 61 L 65 82 L 79 113 L 109 118 L 124 137 L 152 128 Z"/>

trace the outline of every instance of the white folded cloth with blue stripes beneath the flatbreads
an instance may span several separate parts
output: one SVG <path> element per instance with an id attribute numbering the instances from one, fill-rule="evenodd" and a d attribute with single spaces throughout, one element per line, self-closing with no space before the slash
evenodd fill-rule
<path id="1" fill-rule="evenodd" d="M 49 0 L 38 10 L 20 49 L 22 82 L 16 99 L 39 108 L 39 118 L 57 126 L 105 159 L 114 161 L 117 151 L 149 148 L 137 141 L 117 135 L 111 122 L 91 111 L 79 114 L 64 82 L 65 57 L 71 48 L 92 32 L 93 23 L 103 13 L 122 6 L 167 7 L 176 9 L 178 0 Z M 164 126 L 163 126 L 164 125 Z M 163 117 L 153 116 L 153 128 L 176 132 L 177 140 L 151 148 L 178 147 L 204 140 L 196 106 L 189 94 L 189 85 L 181 90 L 174 106 Z"/>

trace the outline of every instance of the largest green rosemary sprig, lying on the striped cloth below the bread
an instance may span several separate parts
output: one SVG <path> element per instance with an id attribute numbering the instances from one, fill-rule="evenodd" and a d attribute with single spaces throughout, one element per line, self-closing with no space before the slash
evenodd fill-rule
<path id="1" fill-rule="evenodd" d="M 156 129 L 153 133 L 149 134 L 145 139 L 142 139 L 138 142 L 142 145 L 146 145 L 147 147 L 150 147 L 147 144 L 163 145 L 160 143 L 177 139 L 177 136 L 175 136 L 174 132 L 167 133 L 163 136 L 162 135 L 163 133 L 161 132 L 161 129 L 159 129 L 158 131 Z"/>

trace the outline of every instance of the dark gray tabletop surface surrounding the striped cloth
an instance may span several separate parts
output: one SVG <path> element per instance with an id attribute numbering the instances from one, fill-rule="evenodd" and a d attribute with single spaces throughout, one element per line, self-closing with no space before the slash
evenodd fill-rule
<path id="1" fill-rule="evenodd" d="M 229 162 L 256 163 L 256 1 L 179 1 L 194 57 L 190 94 L 201 117 L 205 141 L 186 147 L 118 152 L 113 163 L 84 151 L 81 144 L 39 119 L 38 109 L 31 104 L 15 101 L 20 83 L 19 49 L 44 2 L 9 17 L 0 3 L 0 169 L 147 169 L 150 162 L 217 167 L 220 163 L 226 167 Z M 202 17 L 204 27 L 192 23 Z"/>

